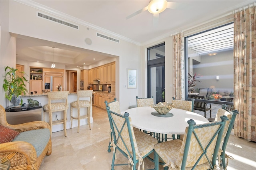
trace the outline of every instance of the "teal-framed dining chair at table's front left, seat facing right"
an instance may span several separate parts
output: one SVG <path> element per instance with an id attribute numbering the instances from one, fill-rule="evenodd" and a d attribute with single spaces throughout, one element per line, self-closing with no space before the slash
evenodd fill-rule
<path id="1" fill-rule="evenodd" d="M 124 113 L 120 115 L 110 110 L 111 106 L 117 105 L 118 102 L 112 102 L 108 104 L 107 112 L 110 121 L 110 128 L 113 133 L 113 138 L 111 145 L 114 146 L 113 159 L 112 159 L 112 170 L 116 160 L 116 150 L 119 150 L 126 158 L 128 158 L 128 164 L 132 166 L 133 170 L 136 170 L 136 164 L 138 163 L 138 170 L 140 170 L 140 165 L 142 164 L 142 169 L 144 169 L 144 161 L 150 153 L 154 152 L 154 145 L 158 143 L 158 140 L 152 136 L 136 130 L 134 132 L 132 128 L 131 118 L 129 113 Z M 114 109 L 115 107 L 112 107 Z M 117 109 L 118 110 L 118 109 Z M 128 165 L 119 164 L 119 165 Z"/>

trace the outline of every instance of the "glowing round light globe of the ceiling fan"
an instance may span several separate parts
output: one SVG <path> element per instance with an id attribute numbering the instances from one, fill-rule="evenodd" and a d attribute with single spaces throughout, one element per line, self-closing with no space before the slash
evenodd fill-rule
<path id="1" fill-rule="evenodd" d="M 152 14 L 159 14 L 167 8 L 166 0 L 152 0 L 148 4 L 148 11 Z"/>

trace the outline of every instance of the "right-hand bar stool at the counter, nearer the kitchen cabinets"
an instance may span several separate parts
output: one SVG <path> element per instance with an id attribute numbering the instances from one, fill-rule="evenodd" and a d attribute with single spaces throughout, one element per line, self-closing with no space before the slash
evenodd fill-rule
<path id="1" fill-rule="evenodd" d="M 71 128 L 72 128 L 72 119 L 78 120 L 78 129 L 77 133 L 79 133 L 80 127 L 80 119 L 87 119 L 89 128 L 91 129 L 90 124 L 90 111 L 92 108 L 92 90 L 78 90 L 77 92 L 77 101 L 73 101 L 70 103 L 70 120 L 71 120 Z M 89 100 L 79 100 L 80 98 L 90 98 Z M 73 116 L 73 108 L 77 108 L 77 117 Z M 80 116 L 80 108 L 87 108 L 87 114 Z"/>

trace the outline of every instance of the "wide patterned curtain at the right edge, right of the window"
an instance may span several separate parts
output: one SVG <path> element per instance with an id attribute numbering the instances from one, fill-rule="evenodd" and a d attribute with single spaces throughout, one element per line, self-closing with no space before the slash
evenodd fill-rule
<path id="1" fill-rule="evenodd" d="M 234 134 L 256 141 L 256 8 L 234 14 Z"/>

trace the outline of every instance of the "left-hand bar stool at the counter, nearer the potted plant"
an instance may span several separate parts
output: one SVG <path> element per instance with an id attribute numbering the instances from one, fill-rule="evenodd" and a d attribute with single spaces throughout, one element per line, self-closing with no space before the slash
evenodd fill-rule
<path id="1" fill-rule="evenodd" d="M 68 110 L 68 93 L 69 91 L 52 91 L 47 92 L 48 95 L 48 104 L 43 106 L 44 112 L 49 113 L 49 125 L 52 136 L 52 126 L 63 124 L 64 127 L 64 135 L 67 136 L 66 132 L 66 123 L 67 123 L 67 110 Z M 54 100 L 65 100 L 65 102 L 52 103 Z M 63 111 L 63 119 L 58 121 L 52 121 L 52 113 Z"/>

